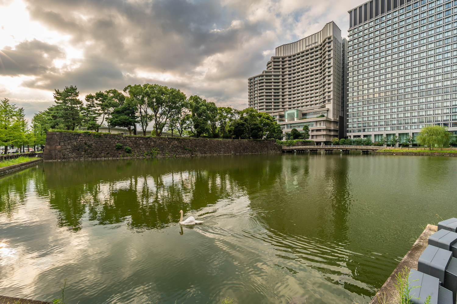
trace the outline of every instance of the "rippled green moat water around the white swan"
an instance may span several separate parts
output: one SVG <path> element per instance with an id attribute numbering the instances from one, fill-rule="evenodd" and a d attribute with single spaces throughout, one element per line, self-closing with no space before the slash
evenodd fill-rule
<path id="1" fill-rule="evenodd" d="M 44 162 L 0 178 L 0 295 L 76 303 L 369 301 L 457 159 L 236 155 Z M 204 223 L 180 227 L 180 210 Z"/>

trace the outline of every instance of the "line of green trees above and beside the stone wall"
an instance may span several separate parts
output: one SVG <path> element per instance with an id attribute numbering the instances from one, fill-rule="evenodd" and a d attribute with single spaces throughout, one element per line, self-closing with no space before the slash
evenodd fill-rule
<path id="1" fill-rule="evenodd" d="M 55 89 L 55 104 L 34 115 L 29 125 L 24 109 L 8 99 L 1 104 L 0 144 L 5 146 L 42 145 L 46 131 L 87 130 L 101 126 L 128 129 L 129 134 L 153 136 L 169 131 L 179 136 L 223 139 L 282 139 L 282 129 L 266 113 L 253 108 L 237 110 L 217 107 L 197 95 L 186 97 L 179 89 L 158 84 L 126 86 L 122 92 L 111 89 L 85 95 L 85 103 L 74 86 Z M 6 150 L 6 148 L 5 148 Z"/>

